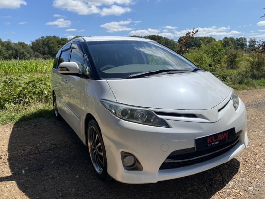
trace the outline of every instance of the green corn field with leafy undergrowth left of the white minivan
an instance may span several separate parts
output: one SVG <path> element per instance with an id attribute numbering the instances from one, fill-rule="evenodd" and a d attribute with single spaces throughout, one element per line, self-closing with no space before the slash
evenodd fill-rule
<path id="1" fill-rule="evenodd" d="M 53 60 L 0 61 L 0 110 L 51 102 Z"/>

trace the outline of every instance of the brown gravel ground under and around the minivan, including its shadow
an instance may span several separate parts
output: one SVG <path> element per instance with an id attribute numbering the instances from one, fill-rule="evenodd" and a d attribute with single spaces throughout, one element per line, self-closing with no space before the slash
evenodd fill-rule
<path id="1" fill-rule="evenodd" d="M 238 92 L 249 146 L 211 170 L 156 184 L 99 180 L 88 150 L 64 122 L 0 126 L 0 199 L 265 199 L 265 89 Z"/>

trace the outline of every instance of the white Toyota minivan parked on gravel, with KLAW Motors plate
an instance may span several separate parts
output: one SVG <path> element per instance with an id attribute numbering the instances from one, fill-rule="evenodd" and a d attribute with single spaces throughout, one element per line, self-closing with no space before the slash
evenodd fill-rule
<path id="1" fill-rule="evenodd" d="M 52 87 L 55 115 L 88 146 L 101 179 L 188 176 L 248 145 L 246 109 L 235 90 L 152 40 L 73 39 L 56 55 Z"/>

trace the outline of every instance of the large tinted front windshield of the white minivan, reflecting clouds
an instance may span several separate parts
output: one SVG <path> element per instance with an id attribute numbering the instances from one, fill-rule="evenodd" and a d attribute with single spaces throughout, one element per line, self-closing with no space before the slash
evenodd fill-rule
<path id="1" fill-rule="evenodd" d="M 154 75 L 154 72 L 191 72 L 197 68 L 186 58 L 154 41 L 93 41 L 88 49 L 100 78 Z"/>

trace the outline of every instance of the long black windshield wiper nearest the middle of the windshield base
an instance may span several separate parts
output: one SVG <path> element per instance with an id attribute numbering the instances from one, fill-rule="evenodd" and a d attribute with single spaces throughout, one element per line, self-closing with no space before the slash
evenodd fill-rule
<path id="1" fill-rule="evenodd" d="M 156 74 L 174 74 L 174 73 L 180 73 L 180 72 L 187 72 L 189 70 L 184 70 L 184 69 L 160 69 L 156 71 L 148 71 L 148 72 L 140 72 L 136 74 L 130 74 L 123 79 L 132 79 L 132 78 L 141 78 L 141 77 L 146 77 L 146 76 L 151 76 L 151 75 L 156 75 Z"/>

